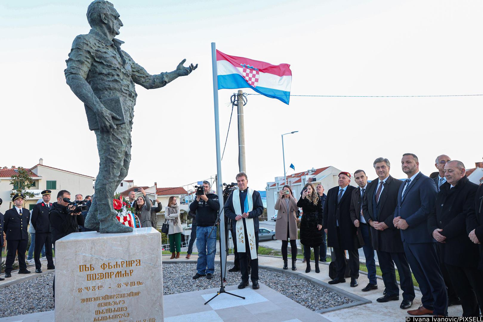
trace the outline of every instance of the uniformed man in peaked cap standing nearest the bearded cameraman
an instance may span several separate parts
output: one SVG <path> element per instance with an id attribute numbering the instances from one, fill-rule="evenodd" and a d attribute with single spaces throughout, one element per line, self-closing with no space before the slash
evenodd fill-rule
<path id="1" fill-rule="evenodd" d="M 35 250 L 33 258 L 35 260 L 35 273 L 42 273 L 40 263 L 40 252 L 45 245 L 45 257 L 47 258 L 47 269 L 54 269 L 52 260 L 52 234 L 50 233 L 49 210 L 52 207 L 50 202 L 51 190 L 44 190 L 42 201 L 35 205 L 32 210 L 32 226 L 35 228 Z"/>

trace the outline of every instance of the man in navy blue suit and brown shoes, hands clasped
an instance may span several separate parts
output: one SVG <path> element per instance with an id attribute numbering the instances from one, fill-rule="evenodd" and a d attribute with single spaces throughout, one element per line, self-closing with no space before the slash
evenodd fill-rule
<path id="1" fill-rule="evenodd" d="M 403 154 L 401 167 L 408 179 L 399 187 L 393 223 L 401 232 L 404 252 L 423 294 L 423 304 L 408 314 L 447 316 L 448 294 L 436 254 L 436 240 L 427 232 L 427 217 L 434 208 L 437 188 L 433 180 L 419 172 L 415 154 Z"/>

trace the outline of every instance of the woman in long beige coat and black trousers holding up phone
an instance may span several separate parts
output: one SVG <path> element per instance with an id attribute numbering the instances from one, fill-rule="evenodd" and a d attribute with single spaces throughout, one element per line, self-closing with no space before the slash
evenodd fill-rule
<path id="1" fill-rule="evenodd" d="M 284 258 L 284 269 L 287 269 L 287 246 L 290 239 L 292 249 L 292 270 L 297 270 L 297 200 L 295 200 L 292 189 L 288 185 L 279 192 L 275 210 L 278 210 L 275 223 L 275 238 L 282 240 L 282 256 Z"/>

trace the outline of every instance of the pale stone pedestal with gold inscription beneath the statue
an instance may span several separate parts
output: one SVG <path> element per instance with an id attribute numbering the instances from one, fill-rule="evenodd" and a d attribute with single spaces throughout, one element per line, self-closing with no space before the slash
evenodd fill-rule
<path id="1" fill-rule="evenodd" d="M 56 322 L 163 322 L 161 234 L 73 233 L 56 242 Z"/>

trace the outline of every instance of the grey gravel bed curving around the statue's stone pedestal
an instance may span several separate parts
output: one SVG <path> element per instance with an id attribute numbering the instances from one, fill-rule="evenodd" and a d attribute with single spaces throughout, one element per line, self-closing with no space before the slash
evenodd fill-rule
<path id="1" fill-rule="evenodd" d="M 196 273 L 195 263 L 163 264 L 163 294 L 219 288 L 219 271 L 220 265 L 215 264 L 212 280 L 204 277 L 193 280 L 192 277 Z M 353 302 L 306 280 L 284 273 L 260 269 L 258 274 L 260 282 L 313 311 Z M 54 273 L 48 273 L 1 289 L 0 318 L 54 309 L 53 280 Z M 240 281 L 240 272 L 228 273 L 225 285 L 238 285 Z"/>

